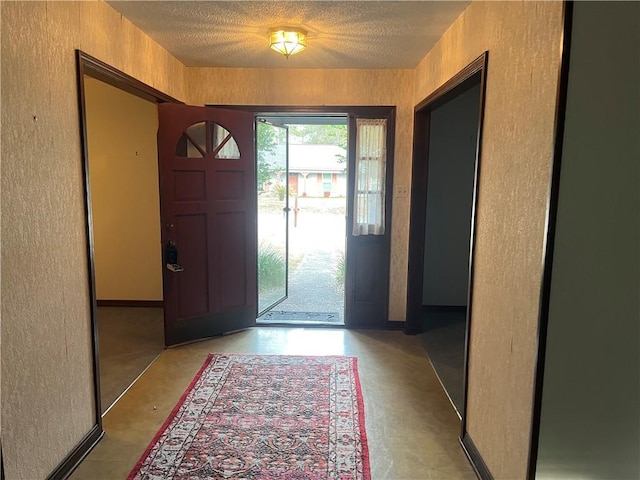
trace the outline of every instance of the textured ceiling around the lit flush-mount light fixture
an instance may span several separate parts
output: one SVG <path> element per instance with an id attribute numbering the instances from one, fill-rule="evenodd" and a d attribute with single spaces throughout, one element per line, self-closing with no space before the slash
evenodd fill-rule
<path id="1" fill-rule="evenodd" d="M 414 68 L 470 2 L 108 3 L 191 67 Z M 277 26 L 306 28 L 307 50 L 269 50 Z"/>

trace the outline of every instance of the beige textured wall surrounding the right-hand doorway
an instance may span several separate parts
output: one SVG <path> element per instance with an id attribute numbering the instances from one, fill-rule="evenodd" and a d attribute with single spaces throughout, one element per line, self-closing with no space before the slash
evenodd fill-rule
<path id="1" fill-rule="evenodd" d="M 489 51 L 467 430 L 496 479 L 525 478 L 560 2 L 474 2 L 416 70 L 417 103 Z"/>

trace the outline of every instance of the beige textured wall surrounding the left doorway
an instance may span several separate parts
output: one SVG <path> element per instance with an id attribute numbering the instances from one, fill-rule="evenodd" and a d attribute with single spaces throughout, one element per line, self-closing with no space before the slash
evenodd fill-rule
<path id="1" fill-rule="evenodd" d="M 2 440 L 46 477 L 95 421 L 79 48 L 184 97 L 184 67 L 103 2 L 2 2 Z"/>

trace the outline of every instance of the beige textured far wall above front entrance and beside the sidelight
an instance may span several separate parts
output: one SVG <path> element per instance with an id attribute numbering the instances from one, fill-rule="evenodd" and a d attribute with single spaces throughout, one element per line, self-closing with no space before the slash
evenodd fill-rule
<path id="1" fill-rule="evenodd" d="M 220 105 L 395 105 L 395 185 L 411 183 L 413 70 L 189 68 L 188 102 Z M 393 199 L 389 319 L 406 311 L 409 199 Z"/>

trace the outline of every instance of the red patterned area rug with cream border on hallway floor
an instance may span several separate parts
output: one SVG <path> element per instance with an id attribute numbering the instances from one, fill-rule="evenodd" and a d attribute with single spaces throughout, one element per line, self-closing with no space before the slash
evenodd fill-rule
<path id="1" fill-rule="evenodd" d="M 212 354 L 133 479 L 371 478 L 354 357 Z"/>

